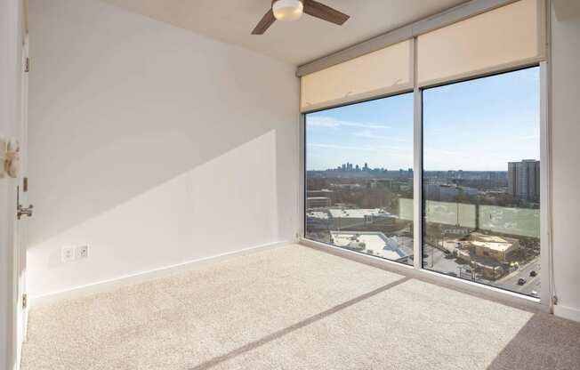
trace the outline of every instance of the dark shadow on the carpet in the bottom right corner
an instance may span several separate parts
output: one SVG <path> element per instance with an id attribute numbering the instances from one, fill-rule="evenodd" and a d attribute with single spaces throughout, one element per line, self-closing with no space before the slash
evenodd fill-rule
<path id="1" fill-rule="evenodd" d="M 580 364 L 580 324 L 536 313 L 487 370 L 568 370 Z"/>

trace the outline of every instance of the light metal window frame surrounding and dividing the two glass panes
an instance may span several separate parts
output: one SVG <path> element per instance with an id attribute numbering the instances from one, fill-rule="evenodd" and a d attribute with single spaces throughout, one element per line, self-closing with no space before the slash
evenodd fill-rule
<path id="1" fill-rule="evenodd" d="M 413 41 L 413 49 L 416 52 L 416 40 Z M 549 173 L 551 173 L 551 155 L 550 155 L 550 123 L 548 122 L 549 109 L 549 73 L 548 61 L 532 61 L 517 66 L 506 66 L 505 68 L 497 68 L 495 70 L 481 71 L 477 75 L 463 76 L 461 78 L 452 78 L 445 82 L 438 82 L 437 84 L 418 85 L 416 82 L 417 65 L 416 59 L 413 58 L 414 68 L 414 88 L 412 90 L 401 90 L 381 96 L 375 96 L 363 101 L 374 101 L 390 96 L 396 96 L 402 93 L 414 94 L 414 265 L 410 266 L 398 261 L 389 261 L 366 253 L 358 253 L 348 249 L 341 248 L 335 245 L 329 245 L 308 239 L 306 237 L 306 187 L 307 187 L 307 173 L 306 173 L 306 115 L 309 113 L 333 109 L 342 106 L 356 104 L 362 101 L 353 101 L 347 104 L 336 105 L 324 109 L 308 110 L 300 113 L 299 137 L 300 137 L 300 179 L 299 197 L 297 199 L 299 205 L 299 231 L 297 233 L 298 241 L 303 245 L 309 245 L 324 251 L 339 254 L 347 258 L 361 261 L 381 269 L 389 269 L 394 272 L 399 272 L 410 277 L 420 278 L 422 280 L 430 281 L 432 283 L 449 286 L 455 289 L 460 289 L 471 294 L 477 294 L 495 302 L 504 302 L 512 305 L 518 305 L 528 310 L 542 310 L 550 312 L 552 310 L 552 253 L 551 253 L 551 238 L 550 229 L 552 229 L 552 210 L 550 205 L 551 184 L 549 180 Z M 470 81 L 487 76 L 495 76 L 503 73 L 514 72 L 520 69 L 539 67 L 540 68 L 540 279 L 542 282 L 541 292 L 539 298 L 530 297 L 528 295 L 514 293 L 495 286 L 486 286 L 481 283 L 464 280 L 459 277 L 451 277 L 437 271 L 423 268 L 423 258 L 416 258 L 416 256 L 423 256 L 423 90 L 443 86 L 447 84 L 455 84 L 464 81 Z"/>

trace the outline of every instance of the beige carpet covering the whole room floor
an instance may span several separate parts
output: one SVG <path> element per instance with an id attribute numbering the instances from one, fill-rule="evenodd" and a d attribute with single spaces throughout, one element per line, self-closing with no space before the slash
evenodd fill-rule
<path id="1" fill-rule="evenodd" d="M 23 370 L 578 369 L 580 325 L 300 245 L 32 310 Z"/>

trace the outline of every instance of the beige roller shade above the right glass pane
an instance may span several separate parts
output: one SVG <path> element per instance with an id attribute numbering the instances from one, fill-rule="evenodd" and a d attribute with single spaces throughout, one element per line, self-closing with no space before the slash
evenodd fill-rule
<path id="1" fill-rule="evenodd" d="M 544 1 L 520 0 L 418 36 L 418 84 L 544 59 L 544 12 Z"/>

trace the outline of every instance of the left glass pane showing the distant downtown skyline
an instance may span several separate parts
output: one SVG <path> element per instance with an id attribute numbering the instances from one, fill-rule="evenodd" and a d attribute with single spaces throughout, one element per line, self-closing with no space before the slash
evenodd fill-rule
<path id="1" fill-rule="evenodd" d="M 413 264 L 413 94 L 306 115 L 306 237 Z"/>

